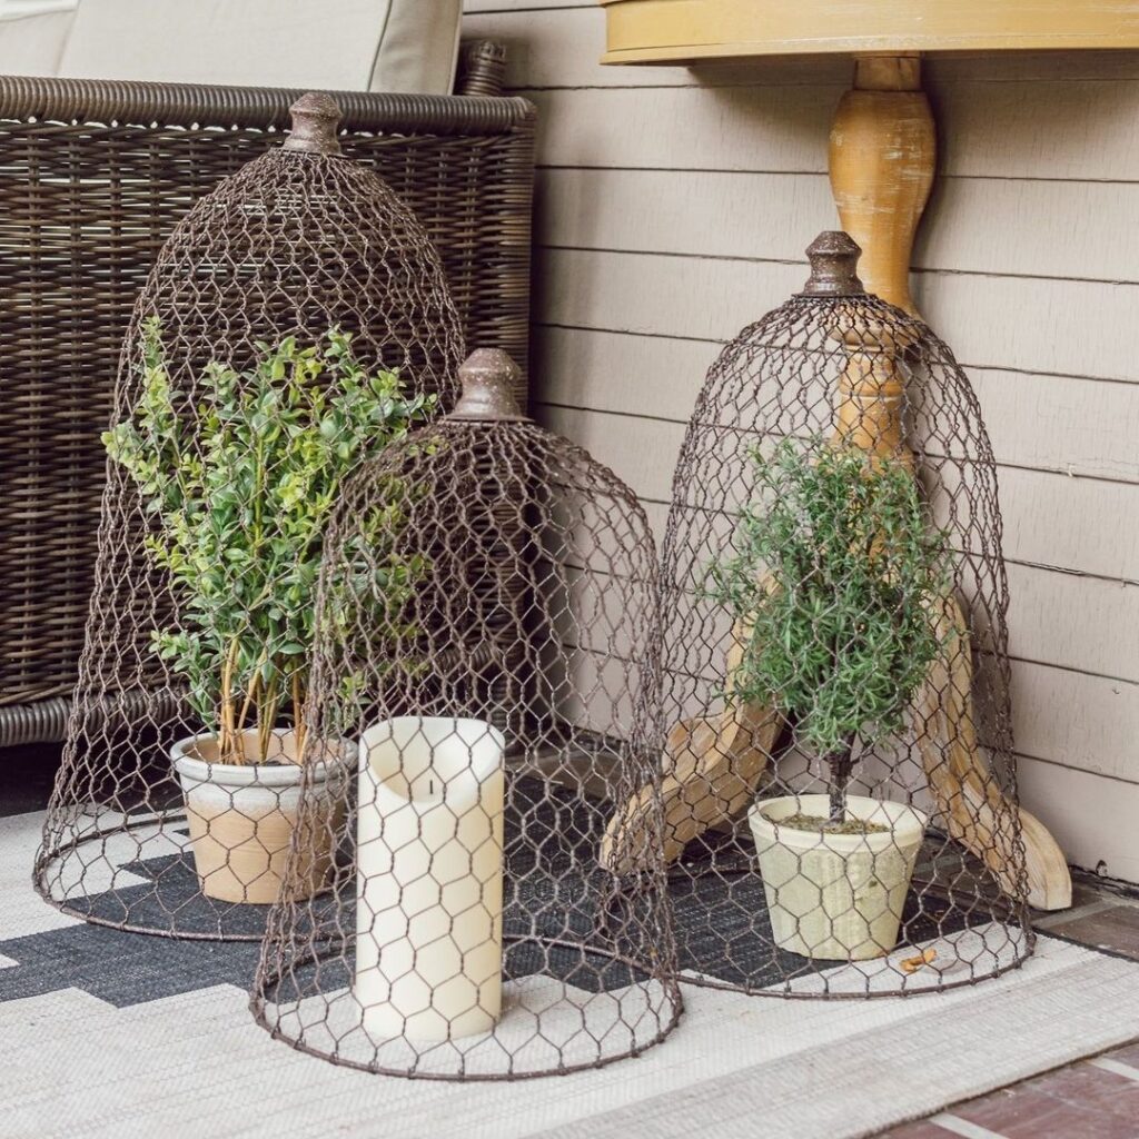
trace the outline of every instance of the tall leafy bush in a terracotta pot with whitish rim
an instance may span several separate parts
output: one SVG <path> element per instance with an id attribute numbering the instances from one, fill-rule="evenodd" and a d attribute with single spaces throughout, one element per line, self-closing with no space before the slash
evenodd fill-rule
<path id="1" fill-rule="evenodd" d="M 350 753 L 305 749 L 323 525 L 344 477 L 426 418 L 434 398 L 409 398 L 398 374 L 362 368 L 336 329 L 317 345 L 259 345 L 248 371 L 208 363 L 192 416 L 172 388 L 155 322 L 144 331 L 141 371 L 138 405 L 104 443 L 153 518 L 146 548 L 175 599 L 174 626 L 155 630 L 153 648 L 185 681 L 203 728 L 171 755 L 195 868 L 211 898 L 271 902 L 301 764 L 310 764 L 317 802 L 323 787 L 331 803 L 329 780 Z M 376 517 L 378 530 L 398 524 L 388 510 Z M 393 621 L 421 567 L 387 549 L 374 616 Z M 319 888 L 329 860 L 328 849 L 314 851 L 289 892 Z"/>

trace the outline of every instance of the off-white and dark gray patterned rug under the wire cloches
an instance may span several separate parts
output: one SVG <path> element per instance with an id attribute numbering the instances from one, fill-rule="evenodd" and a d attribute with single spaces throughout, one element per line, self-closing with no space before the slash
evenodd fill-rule
<path id="1" fill-rule="evenodd" d="M 689 989 L 667 1041 L 595 1072 L 371 1076 L 253 1023 L 255 945 L 117 933 L 48 907 L 30 880 L 40 821 L 0 818 L 2 1139 L 847 1139 L 1139 1034 L 1139 965 L 1041 937 L 1022 969 L 903 1000 Z"/>

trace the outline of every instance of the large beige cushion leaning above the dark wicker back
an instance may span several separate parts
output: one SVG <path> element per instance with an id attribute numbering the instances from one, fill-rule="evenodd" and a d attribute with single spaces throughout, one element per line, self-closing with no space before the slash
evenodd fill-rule
<path id="1" fill-rule="evenodd" d="M 446 95 L 461 0 L 81 0 L 59 74 Z"/>

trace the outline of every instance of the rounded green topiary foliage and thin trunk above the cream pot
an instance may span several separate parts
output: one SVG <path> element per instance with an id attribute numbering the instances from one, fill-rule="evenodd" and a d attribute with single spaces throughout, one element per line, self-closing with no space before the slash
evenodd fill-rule
<path id="1" fill-rule="evenodd" d="M 746 630 L 735 694 L 778 707 L 827 760 L 838 827 L 855 743 L 900 728 L 945 650 L 933 614 L 951 580 L 948 539 L 898 460 L 795 440 L 752 458 L 756 500 L 708 592 Z"/>

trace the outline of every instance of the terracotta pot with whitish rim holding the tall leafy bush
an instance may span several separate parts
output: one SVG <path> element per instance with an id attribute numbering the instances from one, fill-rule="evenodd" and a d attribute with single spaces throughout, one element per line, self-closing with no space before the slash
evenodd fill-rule
<path id="1" fill-rule="evenodd" d="M 186 797 L 194 867 L 207 898 L 268 904 L 281 892 L 304 769 L 295 762 L 295 734 L 276 729 L 273 736 L 279 763 L 218 763 L 218 739 L 212 735 L 192 736 L 171 748 Z M 256 755 L 256 731 L 244 732 L 241 740 L 245 754 Z M 343 755 L 312 768 L 314 842 L 290 875 L 288 896 L 311 898 L 328 884 L 337 781 L 346 777 L 351 754 L 344 745 Z"/>

